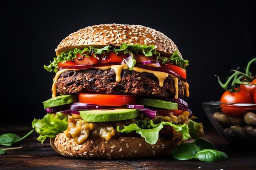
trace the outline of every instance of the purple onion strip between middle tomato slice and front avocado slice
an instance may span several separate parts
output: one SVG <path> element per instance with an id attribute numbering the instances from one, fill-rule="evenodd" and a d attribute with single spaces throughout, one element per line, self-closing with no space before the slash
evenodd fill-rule
<path id="1" fill-rule="evenodd" d="M 45 111 L 47 113 L 56 113 L 61 110 L 92 110 L 92 109 L 115 109 L 115 108 L 135 108 L 135 109 L 144 109 L 143 105 L 136 105 L 136 104 L 126 104 L 124 106 L 101 106 L 96 104 L 85 104 L 85 103 L 72 103 L 72 104 L 66 104 L 63 106 L 57 106 L 52 108 L 46 108 Z"/>

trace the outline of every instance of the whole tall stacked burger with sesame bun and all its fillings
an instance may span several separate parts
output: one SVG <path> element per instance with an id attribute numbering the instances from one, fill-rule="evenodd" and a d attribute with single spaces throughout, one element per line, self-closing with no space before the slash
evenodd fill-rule
<path id="1" fill-rule="evenodd" d="M 71 33 L 55 51 L 44 66 L 55 73 L 52 97 L 43 102 L 47 114 L 32 127 L 58 154 L 157 157 L 203 134 L 183 100 L 189 61 L 163 33 L 100 24 Z"/>

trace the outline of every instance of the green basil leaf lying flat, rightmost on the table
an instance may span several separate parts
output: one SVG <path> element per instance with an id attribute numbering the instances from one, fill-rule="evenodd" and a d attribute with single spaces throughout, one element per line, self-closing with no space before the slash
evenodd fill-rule
<path id="1" fill-rule="evenodd" d="M 228 159 L 227 154 L 224 152 L 213 150 L 213 149 L 204 149 L 199 151 L 195 158 L 204 161 L 204 162 L 213 162 L 213 161 L 225 161 Z"/>

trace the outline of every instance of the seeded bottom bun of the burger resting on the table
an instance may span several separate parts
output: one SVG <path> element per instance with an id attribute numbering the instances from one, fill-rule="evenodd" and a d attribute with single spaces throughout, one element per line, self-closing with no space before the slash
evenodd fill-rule
<path id="1" fill-rule="evenodd" d="M 182 138 L 173 140 L 159 138 L 157 143 L 150 145 L 144 138 L 119 137 L 104 141 L 101 138 L 89 139 L 84 144 L 76 144 L 74 139 L 69 139 L 64 133 L 50 138 L 52 148 L 60 155 L 78 158 L 98 159 L 130 159 L 170 155 L 175 146 L 182 144 Z"/>

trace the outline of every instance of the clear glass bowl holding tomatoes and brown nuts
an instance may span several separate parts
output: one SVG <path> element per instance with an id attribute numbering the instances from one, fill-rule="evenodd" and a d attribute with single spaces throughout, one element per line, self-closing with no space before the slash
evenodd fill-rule
<path id="1" fill-rule="evenodd" d="M 203 102 L 211 124 L 231 144 L 256 146 L 256 104 Z"/>

